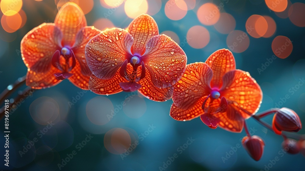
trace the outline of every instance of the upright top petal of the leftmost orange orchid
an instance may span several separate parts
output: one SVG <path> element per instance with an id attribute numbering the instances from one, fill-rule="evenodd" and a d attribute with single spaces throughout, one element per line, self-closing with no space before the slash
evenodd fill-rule
<path id="1" fill-rule="evenodd" d="M 77 32 L 87 25 L 83 11 L 73 2 L 67 2 L 60 8 L 54 23 L 63 32 L 62 45 L 70 47 L 75 42 Z"/>

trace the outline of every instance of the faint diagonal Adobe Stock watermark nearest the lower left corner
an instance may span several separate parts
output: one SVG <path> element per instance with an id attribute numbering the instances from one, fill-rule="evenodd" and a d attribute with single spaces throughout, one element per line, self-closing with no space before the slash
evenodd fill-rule
<path id="1" fill-rule="evenodd" d="M 48 131 L 49 129 L 51 129 L 55 124 L 51 122 L 48 122 L 48 125 L 46 125 L 43 129 L 39 130 L 36 135 L 38 136 L 37 137 L 34 137 L 33 140 L 29 140 L 27 142 L 27 145 L 24 145 L 23 146 L 23 149 L 22 151 L 19 150 L 19 155 L 20 157 L 23 157 L 23 155 L 25 155 L 34 145 L 35 143 L 37 143 L 41 138 L 42 136 L 44 136 Z"/>

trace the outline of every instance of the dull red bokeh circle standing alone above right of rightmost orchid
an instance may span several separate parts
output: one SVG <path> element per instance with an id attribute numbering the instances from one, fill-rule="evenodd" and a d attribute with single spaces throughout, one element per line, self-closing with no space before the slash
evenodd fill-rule
<path id="1" fill-rule="evenodd" d="M 277 36 L 272 41 L 272 51 L 279 58 L 287 58 L 293 49 L 292 42 L 286 36 Z"/>

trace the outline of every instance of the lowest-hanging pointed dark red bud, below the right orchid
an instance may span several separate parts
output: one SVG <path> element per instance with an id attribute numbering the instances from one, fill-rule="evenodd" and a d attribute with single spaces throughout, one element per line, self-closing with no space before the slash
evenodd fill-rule
<path id="1" fill-rule="evenodd" d="M 259 136 L 245 136 L 242 139 L 242 146 L 254 160 L 259 161 L 263 155 L 265 143 Z"/>

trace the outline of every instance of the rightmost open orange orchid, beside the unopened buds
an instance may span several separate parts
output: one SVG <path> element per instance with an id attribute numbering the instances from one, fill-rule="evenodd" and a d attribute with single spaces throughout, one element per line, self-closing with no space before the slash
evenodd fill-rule
<path id="1" fill-rule="evenodd" d="M 176 120 L 200 116 L 210 128 L 241 132 L 249 113 L 258 111 L 262 91 L 248 72 L 235 69 L 233 54 L 220 49 L 206 63 L 187 65 L 172 98 L 170 116 Z"/>

